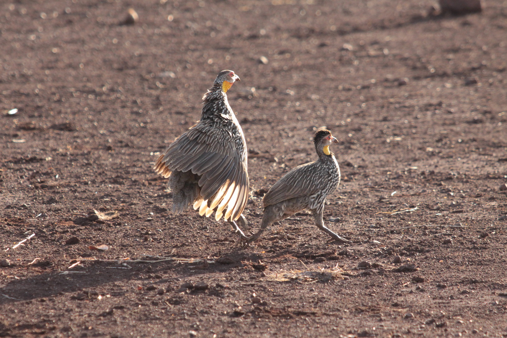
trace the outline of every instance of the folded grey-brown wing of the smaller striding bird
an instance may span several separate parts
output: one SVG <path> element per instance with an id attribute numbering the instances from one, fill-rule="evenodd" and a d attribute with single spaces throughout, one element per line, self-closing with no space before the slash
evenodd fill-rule
<path id="1" fill-rule="evenodd" d="M 327 171 L 317 162 L 297 166 L 282 176 L 264 195 L 264 207 L 291 198 L 313 195 L 322 189 L 322 179 Z"/>

